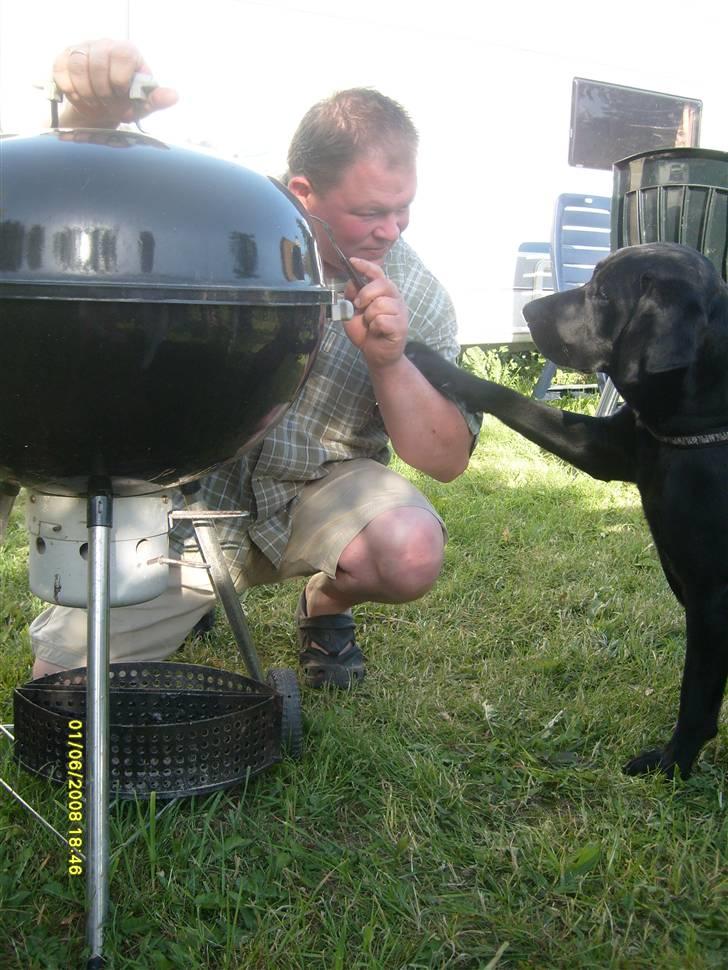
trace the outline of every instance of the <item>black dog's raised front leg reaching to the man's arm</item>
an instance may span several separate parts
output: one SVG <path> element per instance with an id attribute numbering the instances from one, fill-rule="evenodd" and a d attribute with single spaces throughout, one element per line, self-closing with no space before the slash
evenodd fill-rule
<path id="1" fill-rule="evenodd" d="M 424 344 L 411 341 L 407 356 L 445 395 L 474 411 L 487 411 L 509 428 L 576 468 L 603 481 L 635 481 L 634 413 L 623 408 L 592 418 L 537 404 L 510 388 L 455 367 Z"/>

